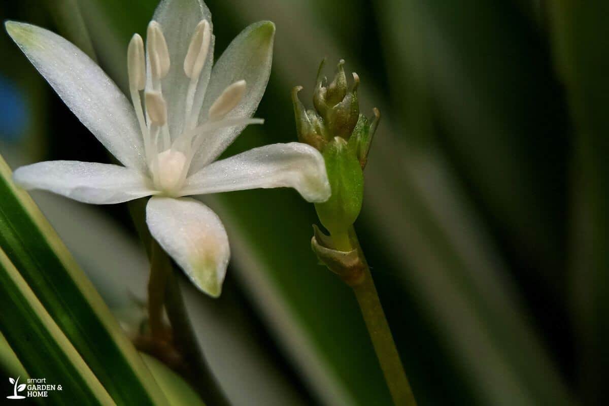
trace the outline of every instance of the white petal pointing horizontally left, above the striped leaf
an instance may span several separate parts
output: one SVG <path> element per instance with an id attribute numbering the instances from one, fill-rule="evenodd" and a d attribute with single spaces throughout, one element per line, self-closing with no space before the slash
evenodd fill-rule
<path id="1" fill-rule="evenodd" d="M 106 205 L 155 194 L 138 171 L 123 166 L 79 161 L 46 161 L 13 173 L 24 189 L 43 189 L 83 203 Z"/>

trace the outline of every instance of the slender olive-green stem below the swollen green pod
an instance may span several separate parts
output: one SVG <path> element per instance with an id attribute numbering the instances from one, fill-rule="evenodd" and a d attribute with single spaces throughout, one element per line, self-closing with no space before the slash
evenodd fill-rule
<path id="1" fill-rule="evenodd" d="M 362 251 L 362 247 L 359 245 L 359 240 L 357 240 L 357 234 L 353 226 L 351 226 L 348 236 L 350 237 L 351 245 L 357 250 L 364 264 L 364 278 L 361 278 L 361 282 L 351 285 L 351 287 L 362 311 L 368 334 L 370 334 L 370 339 L 375 348 L 376 357 L 381 365 L 393 403 L 396 406 L 415 406 L 417 402 L 404 372 L 400 354 L 398 354 L 389 324 L 387 324 L 385 313 L 382 310 L 381 301 L 376 292 L 370 267 L 368 267 L 364 251 Z M 334 236 L 332 237 L 333 241 L 335 241 Z"/>

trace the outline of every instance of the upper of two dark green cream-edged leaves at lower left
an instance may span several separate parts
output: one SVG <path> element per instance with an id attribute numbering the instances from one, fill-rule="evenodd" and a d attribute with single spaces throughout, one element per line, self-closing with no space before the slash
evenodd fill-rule
<path id="1" fill-rule="evenodd" d="M 166 404 L 102 298 L 33 200 L 12 183 L 1 157 L 0 195 L 0 247 L 114 401 Z"/>

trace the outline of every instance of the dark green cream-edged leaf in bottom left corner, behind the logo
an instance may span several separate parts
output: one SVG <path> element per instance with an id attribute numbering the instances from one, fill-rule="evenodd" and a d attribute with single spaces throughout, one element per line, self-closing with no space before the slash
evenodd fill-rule
<path id="1" fill-rule="evenodd" d="M 74 399 L 82 405 L 114 404 L 2 250 L 0 308 L 0 330 L 30 377 L 62 385 L 61 392 L 49 392 L 54 404 L 71 405 Z"/>

